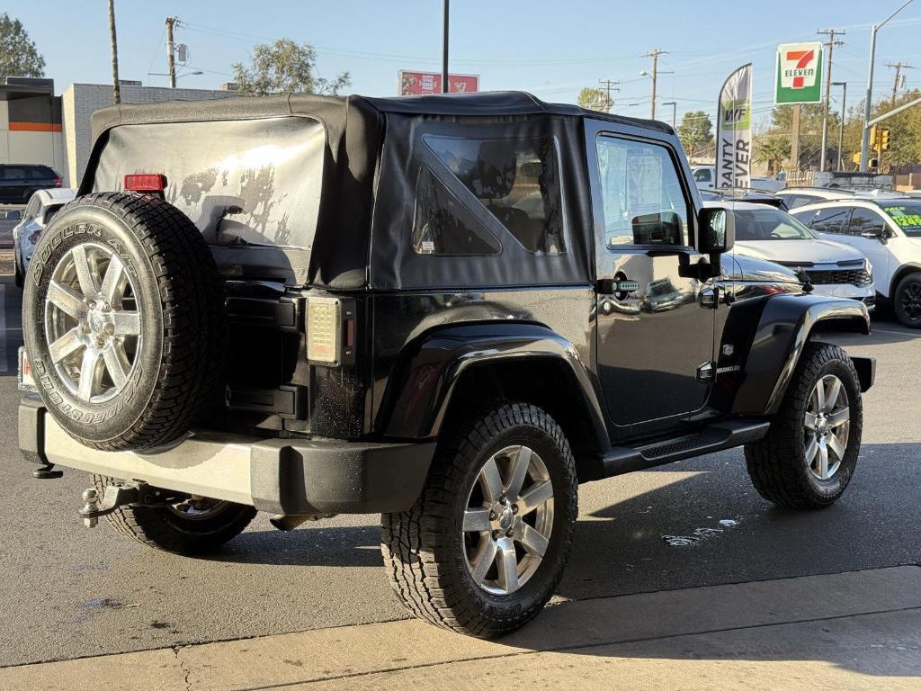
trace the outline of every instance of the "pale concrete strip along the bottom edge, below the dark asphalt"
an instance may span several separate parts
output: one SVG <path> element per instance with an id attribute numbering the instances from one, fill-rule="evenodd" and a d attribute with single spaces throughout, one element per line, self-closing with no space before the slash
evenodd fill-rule
<path id="1" fill-rule="evenodd" d="M 917 689 L 921 568 L 558 603 L 498 642 L 418 621 L 0 669 L 0 689 Z"/>

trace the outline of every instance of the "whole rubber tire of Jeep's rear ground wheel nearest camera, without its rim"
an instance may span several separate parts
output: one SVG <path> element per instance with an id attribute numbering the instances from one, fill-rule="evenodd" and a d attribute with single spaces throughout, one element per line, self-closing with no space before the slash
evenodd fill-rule
<path id="1" fill-rule="evenodd" d="M 554 520 L 539 566 L 519 588 L 491 594 L 473 580 L 461 529 L 484 463 L 509 445 L 540 454 L 554 490 Z M 381 551 L 391 585 L 419 618 L 477 638 L 513 631 L 536 616 L 563 575 L 577 519 L 577 475 L 563 430 L 530 404 L 495 404 L 439 440 L 426 486 L 412 509 L 381 517 Z"/>

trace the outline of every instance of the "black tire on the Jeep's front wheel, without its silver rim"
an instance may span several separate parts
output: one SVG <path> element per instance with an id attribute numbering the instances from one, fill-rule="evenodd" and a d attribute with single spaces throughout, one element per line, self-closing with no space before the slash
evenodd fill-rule
<path id="1" fill-rule="evenodd" d="M 859 391 L 857 370 L 850 357 L 847 357 L 847 353 L 838 345 L 811 342 L 803 348 L 784 401 L 780 405 L 780 412 L 775 416 L 767 435 L 764 439 L 745 446 L 745 463 L 754 488 L 763 498 L 778 506 L 790 509 L 823 509 L 831 506 L 840 496 L 839 493 L 834 497 L 826 497 L 813 491 L 799 469 L 802 454 L 798 448 L 798 439 L 803 433 L 803 420 L 799 416 L 799 410 L 807 402 L 822 368 L 830 362 L 843 364 Z M 863 422 L 863 408 L 859 396 L 857 400 L 849 401 L 849 405 L 857 415 L 851 417 L 848 446 L 851 443 L 857 443 L 859 446 Z"/>

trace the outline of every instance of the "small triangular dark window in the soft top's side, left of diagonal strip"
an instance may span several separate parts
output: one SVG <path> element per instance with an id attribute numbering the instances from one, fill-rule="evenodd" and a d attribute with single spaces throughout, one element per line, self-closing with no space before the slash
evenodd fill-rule
<path id="1" fill-rule="evenodd" d="M 417 254 L 498 254 L 500 246 L 435 174 L 423 166 L 415 187 L 413 249 Z"/>

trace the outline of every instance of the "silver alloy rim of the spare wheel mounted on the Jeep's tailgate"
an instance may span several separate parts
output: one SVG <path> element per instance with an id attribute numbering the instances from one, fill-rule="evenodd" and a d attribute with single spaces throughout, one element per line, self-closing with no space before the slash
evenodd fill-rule
<path id="1" fill-rule="evenodd" d="M 110 248 L 76 245 L 54 267 L 45 338 L 54 369 L 81 401 L 106 403 L 124 389 L 141 351 L 141 306 Z"/>

